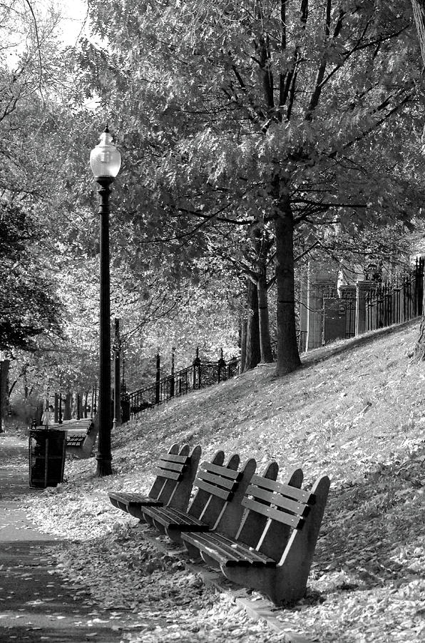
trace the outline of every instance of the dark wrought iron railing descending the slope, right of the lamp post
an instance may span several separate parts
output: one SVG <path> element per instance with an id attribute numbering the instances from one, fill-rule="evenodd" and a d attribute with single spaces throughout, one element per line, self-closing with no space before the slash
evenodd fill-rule
<path id="1" fill-rule="evenodd" d="M 121 395 L 123 422 L 174 397 L 235 377 L 239 373 L 239 363 L 237 357 L 227 362 L 222 357 L 217 362 L 203 362 L 197 357 L 192 366 L 158 379 L 148 387 Z"/>

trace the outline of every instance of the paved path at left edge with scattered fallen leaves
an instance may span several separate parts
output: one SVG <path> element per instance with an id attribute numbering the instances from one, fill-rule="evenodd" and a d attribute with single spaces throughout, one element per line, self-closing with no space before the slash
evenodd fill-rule
<path id="1" fill-rule="evenodd" d="M 0 434 L 0 641 L 121 641 L 119 619 L 114 627 L 89 592 L 73 592 L 56 569 L 63 544 L 26 518 L 26 498 L 41 492 L 29 488 L 24 442 Z"/>

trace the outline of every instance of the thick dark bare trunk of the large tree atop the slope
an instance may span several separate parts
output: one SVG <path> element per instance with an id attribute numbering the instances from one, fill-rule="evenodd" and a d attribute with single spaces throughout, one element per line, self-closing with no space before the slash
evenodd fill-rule
<path id="1" fill-rule="evenodd" d="M 280 199 L 275 217 L 277 286 L 277 366 L 276 374 L 285 375 L 300 365 L 295 329 L 294 217 L 290 199 Z"/>

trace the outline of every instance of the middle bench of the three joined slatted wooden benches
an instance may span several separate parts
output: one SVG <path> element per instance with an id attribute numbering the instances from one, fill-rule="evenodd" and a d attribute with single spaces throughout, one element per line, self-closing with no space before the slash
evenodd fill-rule
<path id="1" fill-rule="evenodd" d="M 175 542 L 180 542 L 184 533 L 208 532 L 218 526 L 223 534 L 234 536 L 245 511 L 242 499 L 257 464 L 254 459 L 249 459 L 238 470 L 238 454 L 233 454 L 227 465 L 223 462 L 224 453 L 219 451 L 212 462 L 200 465 L 193 485 L 197 492 L 187 512 L 169 506 L 142 507 L 145 519 Z M 277 465 L 268 467 L 265 475 L 276 477 Z M 300 469 L 292 474 L 290 483 L 301 485 Z"/>

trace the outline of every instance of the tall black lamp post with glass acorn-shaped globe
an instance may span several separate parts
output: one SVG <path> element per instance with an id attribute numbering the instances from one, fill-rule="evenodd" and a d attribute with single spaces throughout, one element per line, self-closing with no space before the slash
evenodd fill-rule
<path id="1" fill-rule="evenodd" d="M 121 154 L 112 143 L 108 127 L 90 153 L 90 165 L 100 196 L 101 310 L 99 351 L 99 432 L 96 454 L 98 477 L 112 474 L 111 455 L 111 295 L 109 279 L 109 195 L 121 167 Z"/>

